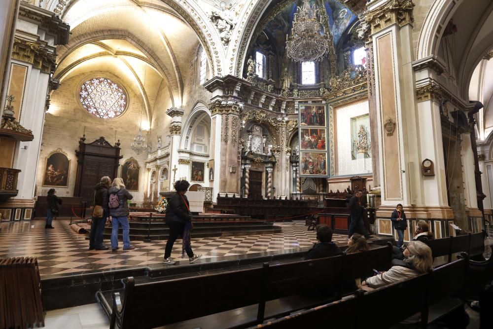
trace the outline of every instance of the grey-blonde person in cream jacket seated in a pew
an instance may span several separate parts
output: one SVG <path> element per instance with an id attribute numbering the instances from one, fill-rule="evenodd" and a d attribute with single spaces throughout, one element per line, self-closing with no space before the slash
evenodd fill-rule
<path id="1" fill-rule="evenodd" d="M 412 241 L 404 247 L 404 260 L 393 259 L 392 267 L 388 271 L 367 278 L 358 286 L 359 289 L 370 292 L 376 288 L 387 286 L 391 283 L 412 279 L 418 275 L 431 272 L 433 257 L 431 249 L 423 242 Z M 421 320 L 421 313 L 417 313 L 401 323 L 413 324 Z"/>

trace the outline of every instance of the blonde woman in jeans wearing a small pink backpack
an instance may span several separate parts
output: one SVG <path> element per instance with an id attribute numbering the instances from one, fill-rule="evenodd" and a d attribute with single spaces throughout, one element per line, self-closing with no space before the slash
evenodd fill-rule
<path id="1" fill-rule="evenodd" d="M 108 208 L 111 215 L 111 250 L 118 250 L 118 227 L 122 226 L 123 230 L 123 250 L 134 250 L 135 247 L 130 245 L 128 223 L 128 203 L 127 200 L 132 200 L 133 196 L 125 188 L 123 180 L 119 177 L 113 180 L 111 188 L 108 191 Z"/>

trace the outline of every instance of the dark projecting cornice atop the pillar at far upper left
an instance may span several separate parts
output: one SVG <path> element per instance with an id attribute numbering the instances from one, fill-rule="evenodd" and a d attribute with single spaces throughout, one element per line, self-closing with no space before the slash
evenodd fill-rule
<path id="1" fill-rule="evenodd" d="M 49 10 L 21 1 L 19 18 L 37 24 L 39 29 L 54 37 L 55 45 L 69 42 L 69 24 Z"/>

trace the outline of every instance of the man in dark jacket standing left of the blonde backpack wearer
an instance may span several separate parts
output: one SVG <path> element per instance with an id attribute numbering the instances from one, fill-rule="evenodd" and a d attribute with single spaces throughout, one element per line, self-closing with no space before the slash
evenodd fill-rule
<path id="1" fill-rule="evenodd" d="M 91 234 L 89 235 L 89 250 L 108 250 L 103 245 L 103 233 L 105 230 L 106 220 L 109 219 L 108 208 L 108 188 L 111 186 L 111 179 L 107 176 L 102 177 L 100 183 L 96 185 L 94 193 L 94 206 L 103 207 L 102 218 L 92 218 Z"/>

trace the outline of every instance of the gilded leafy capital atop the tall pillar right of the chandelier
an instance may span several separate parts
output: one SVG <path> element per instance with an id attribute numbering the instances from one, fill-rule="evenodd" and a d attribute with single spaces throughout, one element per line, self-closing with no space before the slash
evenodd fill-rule
<path id="1" fill-rule="evenodd" d="M 400 27 L 413 24 L 412 0 L 389 0 L 376 8 L 363 13 L 366 23 L 371 27 L 371 34 L 375 34 L 385 28 L 398 24 Z"/>

